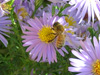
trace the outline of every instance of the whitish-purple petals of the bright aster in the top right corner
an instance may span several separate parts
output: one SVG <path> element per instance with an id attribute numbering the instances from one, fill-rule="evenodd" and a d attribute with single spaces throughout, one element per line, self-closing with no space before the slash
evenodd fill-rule
<path id="1" fill-rule="evenodd" d="M 95 17 L 100 21 L 99 0 L 76 0 L 74 3 L 75 5 L 69 9 L 69 12 L 77 11 L 76 18 L 78 17 L 80 19 L 79 23 L 81 23 L 86 16 L 88 16 L 88 23 L 91 22 L 91 19 L 94 22 Z"/>

